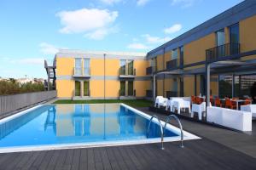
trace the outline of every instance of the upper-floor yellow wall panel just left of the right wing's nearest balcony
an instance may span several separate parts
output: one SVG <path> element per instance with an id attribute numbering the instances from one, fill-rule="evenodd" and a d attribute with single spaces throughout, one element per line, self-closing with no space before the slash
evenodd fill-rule
<path id="1" fill-rule="evenodd" d="M 184 45 L 184 65 L 206 59 L 206 50 L 215 47 L 215 33 Z"/>

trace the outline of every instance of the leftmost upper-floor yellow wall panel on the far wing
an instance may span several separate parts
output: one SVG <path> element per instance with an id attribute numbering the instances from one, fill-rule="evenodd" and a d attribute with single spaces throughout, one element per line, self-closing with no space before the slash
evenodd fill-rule
<path id="1" fill-rule="evenodd" d="M 56 75 L 65 76 L 73 75 L 74 58 L 56 58 Z"/>

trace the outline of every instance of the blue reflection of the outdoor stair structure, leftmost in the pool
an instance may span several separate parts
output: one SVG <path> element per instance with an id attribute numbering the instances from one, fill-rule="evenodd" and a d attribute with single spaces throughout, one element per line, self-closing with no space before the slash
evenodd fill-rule
<path id="1" fill-rule="evenodd" d="M 56 134 L 56 108 L 55 105 L 50 107 L 47 111 L 47 117 L 44 122 L 44 131 L 49 130 L 49 128 L 53 129 L 53 132 Z"/>

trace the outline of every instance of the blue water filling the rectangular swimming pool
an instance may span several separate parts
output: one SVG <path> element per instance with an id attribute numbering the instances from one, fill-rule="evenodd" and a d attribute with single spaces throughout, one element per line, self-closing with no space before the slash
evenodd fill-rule
<path id="1" fill-rule="evenodd" d="M 148 119 L 119 104 L 42 105 L 0 124 L 0 148 L 147 139 Z M 167 137 L 177 136 L 166 130 Z M 148 138 L 159 138 L 152 123 Z"/>

